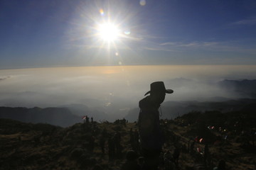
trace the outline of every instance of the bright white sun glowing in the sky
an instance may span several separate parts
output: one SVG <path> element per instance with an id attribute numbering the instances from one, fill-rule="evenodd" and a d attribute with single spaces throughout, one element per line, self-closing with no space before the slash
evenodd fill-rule
<path id="1" fill-rule="evenodd" d="M 106 42 L 114 42 L 120 37 L 120 30 L 114 23 L 102 23 L 97 26 L 97 35 Z"/>

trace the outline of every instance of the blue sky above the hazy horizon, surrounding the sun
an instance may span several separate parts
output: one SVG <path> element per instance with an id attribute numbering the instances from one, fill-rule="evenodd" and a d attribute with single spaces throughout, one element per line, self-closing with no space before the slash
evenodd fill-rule
<path id="1" fill-rule="evenodd" d="M 256 64 L 256 1 L 0 1 L 0 69 L 120 64 Z"/>

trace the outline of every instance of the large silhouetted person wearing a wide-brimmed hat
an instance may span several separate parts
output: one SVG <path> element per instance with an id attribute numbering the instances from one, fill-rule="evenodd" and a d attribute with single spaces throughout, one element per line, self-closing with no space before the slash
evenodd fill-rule
<path id="1" fill-rule="evenodd" d="M 174 91 L 166 89 L 163 81 L 150 84 L 150 91 L 139 101 L 139 137 L 141 141 L 142 154 L 145 158 L 144 169 L 155 170 L 159 166 L 159 154 L 164 144 L 164 136 L 160 130 L 159 107 L 164 101 L 166 94 Z"/>

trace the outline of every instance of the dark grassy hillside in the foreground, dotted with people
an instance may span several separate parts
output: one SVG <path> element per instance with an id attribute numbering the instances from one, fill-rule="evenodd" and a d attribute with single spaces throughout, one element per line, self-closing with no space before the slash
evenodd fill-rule
<path id="1" fill-rule="evenodd" d="M 220 159 L 227 169 L 255 169 L 255 120 L 252 111 L 191 112 L 161 120 L 166 142 L 160 169 L 193 169 L 198 164 L 213 169 Z M 0 169 L 120 169 L 127 150 L 139 154 L 137 142 L 131 140 L 136 139 L 136 129 L 136 123 L 125 120 L 60 128 L 0 119 Z M 164 155 L 172 155 L 175 147 L 180 152 L 178 164 Z"/>

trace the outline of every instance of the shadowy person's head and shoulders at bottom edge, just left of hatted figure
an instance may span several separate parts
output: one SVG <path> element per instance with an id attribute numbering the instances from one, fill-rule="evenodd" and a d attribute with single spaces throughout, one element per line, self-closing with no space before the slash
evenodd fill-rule
<path id="1" fill-rule="evenodd" d="M 127 151 L 126 162 L 122 165 L 121 170 L 140 170 L 141 166 L 137 163 L 137 154 L 134 150 Z"/>

